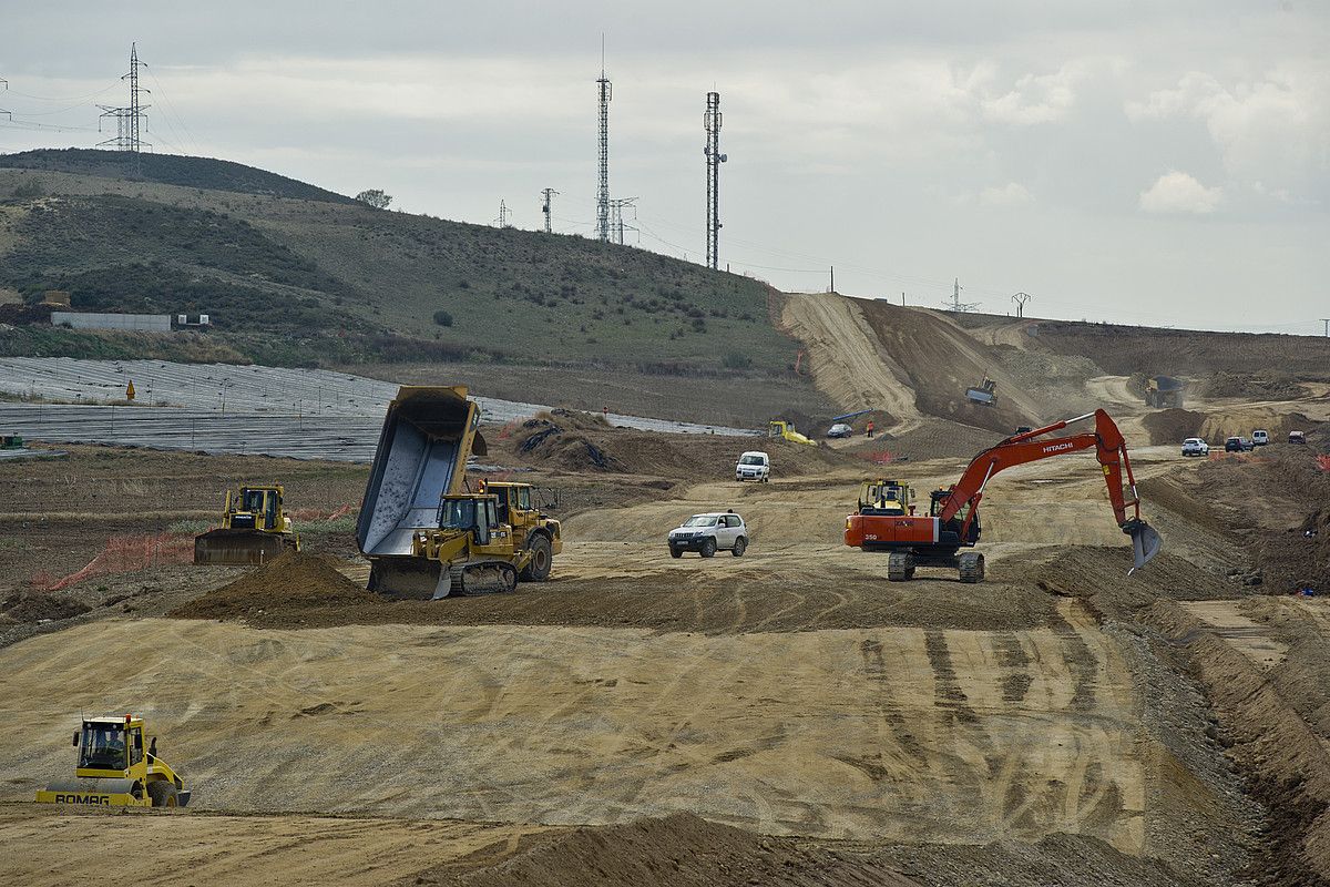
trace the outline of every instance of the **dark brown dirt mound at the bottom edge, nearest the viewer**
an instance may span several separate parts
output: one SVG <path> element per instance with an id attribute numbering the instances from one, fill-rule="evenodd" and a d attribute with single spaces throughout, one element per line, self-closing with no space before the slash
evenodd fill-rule
<path id="1" fill-rule="evenodd" d="M 762 838 L 686 813 L 626 826 L 573 828 L 537 838 L 528 850 L 501 862 L 469 871 L 467 867 L 468 860 L 462 860 L 402 883 L 447 887 L 919 884 L 874 862 L 801 847 L 789 839 Z"/>

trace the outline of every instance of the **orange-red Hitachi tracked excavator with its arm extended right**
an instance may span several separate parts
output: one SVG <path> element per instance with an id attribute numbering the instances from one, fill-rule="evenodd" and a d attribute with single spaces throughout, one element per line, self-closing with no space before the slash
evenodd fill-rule
<path id="1" fill-rule="evenodd" d="M 1095 419 L 1093 432 L 1044 436 L 1091 418 Z M 959 570 L 962 582 L 983 581 L 984 556 L 962 549 L 974 548 L 979 541 L 979 501 L 992 476 L 1004 468 L 1084 449 L 1093 449 L 1099 457 L 1113 516 L 1123 532 L 1132 537 L 1134 572 L 1158 553 L 1161 541 L 1158 533 L 1141 520 L 1141 499 L 1127 457 L 1127 442 L 1103 410 L 1012 435 L 984 449 L 974 457 L 959 481 L 947 489 L 932 491 L 927 515 L 916 515 L 914 505 L 908 507 L 908 513 L 902 513 L 896 503 L 887 503 L 892 505 L 887 508 L 874 496 L 861 495 L 858 512 L 845 521 L 845 544 L 863 551 L 890 552 L 887 578 L 894 582 L 914 578 L 916 567 L 946 567 Z M 1123 491 L 1124 473 L 1130 499 Z"/>

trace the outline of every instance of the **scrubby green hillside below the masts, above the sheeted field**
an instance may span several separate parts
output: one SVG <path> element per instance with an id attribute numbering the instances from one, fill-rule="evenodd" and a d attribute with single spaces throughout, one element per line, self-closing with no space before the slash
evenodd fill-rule
<path id="1" fill-rule="evenodd" d="M 769 322 L 770 289 L 743 277 L 575 235 L 374 210 L 299 182 L 273 195 L 281 177 L 222 161 L 145 157 L 142 180 L 117 178 L 100 154 L 3 158 L 0 287 L 28 299 L 69 290 L 78 310 L 207 313 L 218 343 L 263 363 L 770 374 L 794 362 Z M 19 339 L 0 352 L 29 352 Z M 70 334 L 68 354 L 84 339 Z"/>

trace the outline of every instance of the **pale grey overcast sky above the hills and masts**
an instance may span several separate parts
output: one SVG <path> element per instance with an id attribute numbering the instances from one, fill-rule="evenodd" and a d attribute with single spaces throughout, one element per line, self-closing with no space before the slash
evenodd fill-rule
<path id="1" fill-rule="evenodd" d="M 959 277 L 999 314 L 1330 317 L 1325 0 L 0 0 L 0 152 L 114 134 L 93 105 L 128 104 L 137 40 L 154 150 L 528 229 L 548 186 L 591 234 L 601 32 L 644 249 L 705 253 L 714 88 L 721 258 L 781 289 L 834 265 L 842 293 L 939 305 Z"/>

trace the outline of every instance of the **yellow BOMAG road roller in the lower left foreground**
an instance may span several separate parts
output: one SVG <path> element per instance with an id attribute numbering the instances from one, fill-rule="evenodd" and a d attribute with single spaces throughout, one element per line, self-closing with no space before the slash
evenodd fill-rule
<path id="1" fill-rule="evenodd" d="M 74 733 L 78 765 L 73 779 L 39 791 L 37 803 L 98 807 L 184 807 L 190 790 L 157 757 L 157 737 L 144 750 L 144 719 L 133 714 L 84 718 Z"/>

